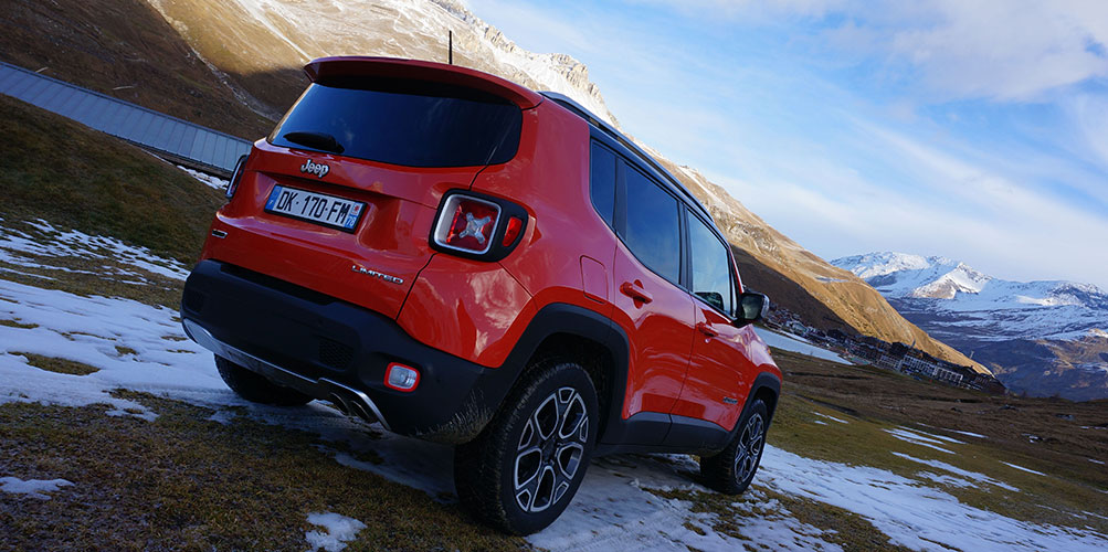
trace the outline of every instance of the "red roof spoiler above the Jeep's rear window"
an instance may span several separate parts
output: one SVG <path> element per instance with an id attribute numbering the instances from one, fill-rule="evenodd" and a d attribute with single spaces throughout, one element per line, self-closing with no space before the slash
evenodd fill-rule
<path id="1" fill-rule="evenodd" d="M 503 97 L 521 110 L 543 102 L 542 95 L 499 76 L 430 61 L 343 55 L 312 60 L 304 66 L 304 72 L 311 82 L 334 76 L 381 76 L 453 84 Z"/>

